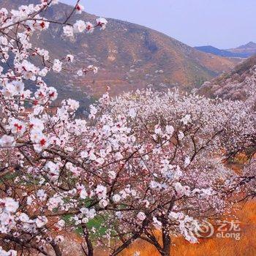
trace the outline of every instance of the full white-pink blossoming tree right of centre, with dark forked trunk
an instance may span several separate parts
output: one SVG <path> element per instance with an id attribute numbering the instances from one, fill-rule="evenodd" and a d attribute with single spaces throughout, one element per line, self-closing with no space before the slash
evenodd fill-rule
<path id="1" fill-rule="evenodd" d="M 122 154 L 124 166 L 110 185 L 108 225 L 123 243 L 113 255 L 136 238 L 170 255 L 170 235 L 196 242 L 200 222 L 228 214 L 244 196 L 246 181 L 224 160 L 230 148 L 255 146 L 251 105 L 148 90 L 110 100 L 106 112 L 127 117 L 135 137 L 135 148 L 129 157 Z"/>

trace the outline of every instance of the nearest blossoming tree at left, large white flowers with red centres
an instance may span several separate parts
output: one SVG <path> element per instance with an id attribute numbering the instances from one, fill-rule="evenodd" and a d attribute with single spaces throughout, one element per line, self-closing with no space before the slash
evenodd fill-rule
<path id="1" fill-rule="evenodd" d="M 62 170 L 69 170 L 75 172 L 73 177 L 79 176 L 78 167 L 72 167 L 66 153 L 72 151 L 70 146 L 74 146 L 87 129 L 85 121 L 74 118 L 79 103 L 67 99 L 53 108 L 57 91 L 43 80 L 48 72 L 61 72 L 65 64 L 72 63 L 74 56 L 51 59 L 48 50 L 31 44 L 31 37 L 48 29 L 51 23 L 62 26 L 67 37 L 86 31 L 91 33 L 97 27 L 105 29 L 107 23 L 104 18 L 98 18 L 95 25 L 83 20 L 69 23 L 74 12 L 83 10 L 79 1 L 63 22 L 47 20 L 44 12 L 53 4 L 58 1 L 42 0 L 40 4 L 23 5 L 11 12 L 5 8 L 0 10 L 1 241 L 6 246 L 14 244 L 18 249 L 36 249 L 45 255 L 48 255 L 45 244 L 51 244 L 56 255 L 61 255 L 56 241 L 46 235 L 49 230 L 45 226 L 48 223 L 45 214 L 58 206 L 67 210 L 69 206 L 64 206 L 62 194 L 70 198 L 80 191 L 78 184 L 77 189 L 73 185 L 72 189 L 65 187 L 60 174 Z M 38 62 L 40 65 L 36 66 Z M 89 71 L 97 72 L 97 67 L 69 70 L 78 75 Z M 28 83 L 34 83 L 34 93 L 26 89 Z M 72 177 L 70 181 L 74 182 Z M 81 197 L 84 198 L 82 193 Z M 61 227 L 62 222 L 53 227 L 51 220 L 51 230 Z M 10 249 L 6 255 L 15 255 L 15 251 Z"/>

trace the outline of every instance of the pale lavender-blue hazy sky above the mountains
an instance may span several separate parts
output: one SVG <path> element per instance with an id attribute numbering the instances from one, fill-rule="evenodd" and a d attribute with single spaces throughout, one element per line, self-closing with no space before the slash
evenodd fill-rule
<path id="1" fill-rule="evenodd" d="M 75 4 L 75 0 L 61 0 Z M 187 45 L 233 48 L 256 42 L 256 0 L 82 0 L 86 12 L 118 18 Z"/>

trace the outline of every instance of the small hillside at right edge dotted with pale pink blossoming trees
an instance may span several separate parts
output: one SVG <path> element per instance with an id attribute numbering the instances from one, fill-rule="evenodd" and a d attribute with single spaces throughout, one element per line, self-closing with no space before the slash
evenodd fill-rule
<path id="1" fill-rule="evenodd" d="M 238 64 L 231 72 L 220 75 L 209 82 L 203 83 L 197 91 L 207 97 L 244 100 L 250 90 L 249 79 L 255 80 L 256 56 Z"/>

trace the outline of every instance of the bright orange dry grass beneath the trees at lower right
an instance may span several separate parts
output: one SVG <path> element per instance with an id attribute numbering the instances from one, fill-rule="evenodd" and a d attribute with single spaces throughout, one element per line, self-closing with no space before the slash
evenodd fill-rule
<path id="1" fill-rule="evenodd" d="M 255 256 L 256 255 L 256 203 L 246 203 L 246 206 L 238 211 L 236 216 L 241 222 L 241 240 L 233 238 L 206 238 L 201 239 L 200 244 L 189 244 L 183 238 L 174 238 L 172 256 Z M 159 256 L 154 246 L 144 241 L 137 241 L 120 256 L 130 256 L 134 252 L 140 252 L 140 256 Z"/>

